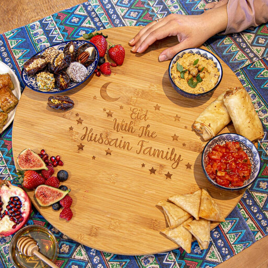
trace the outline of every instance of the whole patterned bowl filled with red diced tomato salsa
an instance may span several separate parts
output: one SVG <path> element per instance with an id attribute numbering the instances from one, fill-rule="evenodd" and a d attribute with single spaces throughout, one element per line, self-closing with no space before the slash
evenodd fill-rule
<path id="1" fill-rule="evenodd" d="M 202 167 L 208 180 L 216 187 L 241 190 L 257 178 L 260 157 L 250 140 L 235 133 L 224 133 L 205 145 Z"/>

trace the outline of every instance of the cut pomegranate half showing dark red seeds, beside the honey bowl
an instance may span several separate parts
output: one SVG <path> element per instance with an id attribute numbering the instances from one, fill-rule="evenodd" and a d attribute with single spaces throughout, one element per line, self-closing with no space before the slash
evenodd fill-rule
<path id="1" fill-rule="evenodd" d="M 22 228 L 31 209 L 31 201 L 23 189 L 0 180 L 0 236 L 11 235 Z"/>

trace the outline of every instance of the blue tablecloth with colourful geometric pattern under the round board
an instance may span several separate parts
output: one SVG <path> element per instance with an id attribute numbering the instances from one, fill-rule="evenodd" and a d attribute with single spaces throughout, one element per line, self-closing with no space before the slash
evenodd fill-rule
<path id="1" fill-rule="evenodd" d="M 48 16 L 24 27 L 0 35 L 0 59 L 20 78 L 24 62 L 37 51 L 65 40 L 76 39 L 96 29 L 140 26 L 170 13 L 200 14 L 211 1 L 174 0 L 91 0 Z M 155 255 L 123 256 L 101 252 L 70 240 L 50 225 L 37 211 L 28 225 L 49 228 L 59 243 L 56 264 L 59 267 L 213 267 L 249 247 L 268 232 L 268 25 L 239 34 L 217 35 L 206 46 L 235 72 L 260 117 L 265 135 L 258 142 L 261 171 L 255 183 L 244 193 L 226 221 L 211 231 L 209 248 L 201 250 L 197 242 L 192 252 L 182 248 Z M 25 85 L 20 78 L 22 91 Z M 12 180 L 15 165 L 12 153 L 12 124 L 0 136 L 0 178 Z M 9 256 L 12 236 L 0 238 L 0 267 L 13 267 Z"/>

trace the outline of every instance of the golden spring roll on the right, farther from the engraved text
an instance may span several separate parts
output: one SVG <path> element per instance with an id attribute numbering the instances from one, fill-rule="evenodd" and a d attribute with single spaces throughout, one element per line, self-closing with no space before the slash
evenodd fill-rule
<path id="1" fill-rule="evenodd" d="M 245 88 L 229 88 L 223 97 L 223 102 L 237 134 L 251 141 L 263 137 L 261 121 Z"/>

